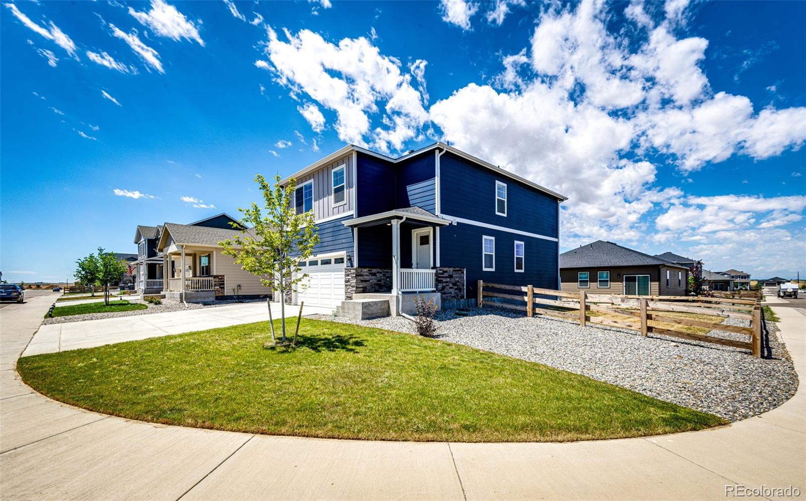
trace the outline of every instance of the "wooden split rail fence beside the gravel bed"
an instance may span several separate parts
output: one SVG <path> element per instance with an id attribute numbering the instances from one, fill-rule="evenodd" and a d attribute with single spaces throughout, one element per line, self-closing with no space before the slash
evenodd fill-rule
<path id="1" fill-rule="evenodd" d="M 620 329 L 663 336 L 680 337 L 692 341 L 712 342 L 750 350 L 754 357 L 761 357 L 762 310 L 760 299 L 734 299 L 704 296 L 622 296 L 596 294 L 595 292 L 566 292 L 536 288 L 531 285 L 488 284 L 478 281 L 477 301 L 483 308 L 485 298 L 490 306 L 526 312 L 527 317 L 535 314 L 557 317 L 579 322 L 581 326 L 591 324 L 609 325 Z M 507 303 L 502 300 L 514 301 Z M 605 318 L 591 313 L 601 313 L 613 318 Z M 675 315 L 677 313 L 678 315 Z M 679 316 L 679 313 L 692 313 L 720 317 L 720 321 L 707 321 Z M 739 318 L 750 321 L 749 327 L 726 325 L 725 318 Z M 652 322 L 652 324 L 650 324 Z M 663 324 L 661 327 L 654 324 Z M 720 330 L 722 332 L 745 334 L 747 341 L 710 336 L 708 333 L 692 333 L 681 328 Z"/>

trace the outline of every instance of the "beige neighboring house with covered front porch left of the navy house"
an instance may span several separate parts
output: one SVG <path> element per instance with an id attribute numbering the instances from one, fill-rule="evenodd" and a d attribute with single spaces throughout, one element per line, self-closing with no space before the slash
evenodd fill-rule
<path id="1" fill-rule="evenodd" d="M 222 253 L 218 242 L 240 233 L 197 223 L 166 222 L 156 241 L 163 261 L 165 299 L 207 302 L 270 296 L 271 289 L 260 284 L 256 275 Z"/>

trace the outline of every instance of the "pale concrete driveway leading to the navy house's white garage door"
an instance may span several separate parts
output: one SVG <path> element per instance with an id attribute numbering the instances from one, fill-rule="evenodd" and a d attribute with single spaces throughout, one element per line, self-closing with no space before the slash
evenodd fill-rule
<path id="1" fill-rule="evenodd" d="M 285 306 L 286 318 L 296 317 L 298 311 L 298 306 Z M 302 310 L 303 315 L 332 312 L 329 308 L 315 306 L 305 306 Z M 280 304 L 272 303 L 272 315 L 280 317 Z M 265 302 L 42 325 L 23 357 L 260 321 L 268 321 Z"/>

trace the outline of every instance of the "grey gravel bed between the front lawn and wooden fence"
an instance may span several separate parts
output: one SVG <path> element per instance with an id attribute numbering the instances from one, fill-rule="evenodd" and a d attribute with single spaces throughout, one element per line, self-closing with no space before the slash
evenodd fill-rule
<path id="1" fill-rule="evenodd" d="M 314 315 L 379 329 L 412 333 L 403 317 L 355 321 Z M 754 358 L 748 350 L 676 337 L 609 327 L 587 327 L 546 317 L 527 318 L 517 312 L 471 309 L 434 316 L 439 339 L 489 350 L 564 371 L 586 375 L 675 404 L 711 412 L 736 421 L 767 412 L 795 395 L 798 377 L 778 327 L 767 324 L 772 358 Z M 731 325 L 748 321 L 729 319 Z M 710 335 L 746 340 L 741 334 L 712 331 Z"/>

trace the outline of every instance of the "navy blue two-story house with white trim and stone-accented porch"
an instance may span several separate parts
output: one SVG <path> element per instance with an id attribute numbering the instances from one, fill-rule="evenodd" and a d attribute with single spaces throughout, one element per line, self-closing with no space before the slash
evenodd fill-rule
<path id="1" fill-rule="evenodd" d="M 294 173 L 297 211 L 321 242 L 287 302 L 338 307 L 423 294 L 474 304 L 476 281 L 559 288 L 559 204 L 566 197 L 455 147 L 393 159 L 348 145 Z M 279 300 L 279 299 L 278 299 Z"/>

